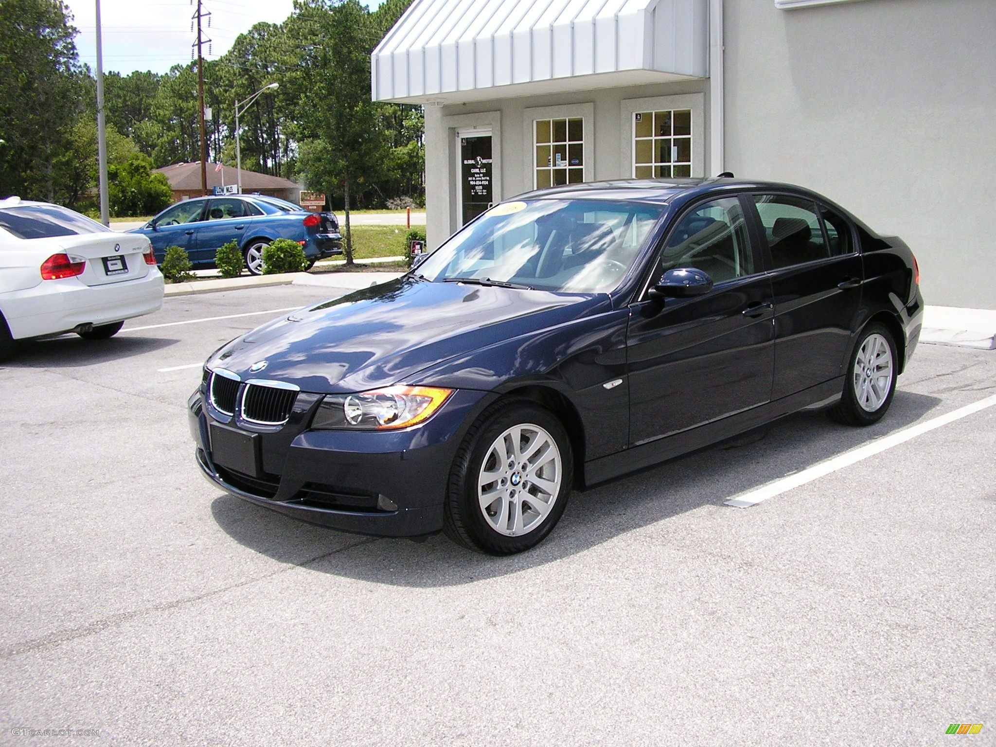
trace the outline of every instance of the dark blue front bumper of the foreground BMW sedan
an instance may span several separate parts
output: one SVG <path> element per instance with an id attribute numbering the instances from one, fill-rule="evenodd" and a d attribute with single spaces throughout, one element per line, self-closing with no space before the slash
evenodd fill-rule
<path id="1" fill-rule="evenodd" d="M 187 402 L 197 465 L 232 495 L 313 524 L 384 537 L 441 530 L 456 449 L 489 395 L 459 390 L 421 425 L 373 432 L 308 429 L 320 400 L 302 392 L 287 423 L 259 428 L 226 419 L 198 389 Z M 215 463 L 212 427 L 258 433 L 262 471 Z"/>

